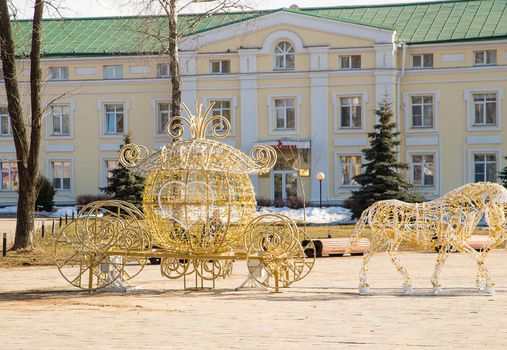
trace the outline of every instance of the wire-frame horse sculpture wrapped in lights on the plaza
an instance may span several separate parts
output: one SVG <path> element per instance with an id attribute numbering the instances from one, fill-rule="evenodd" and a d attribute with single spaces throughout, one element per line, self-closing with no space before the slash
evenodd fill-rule
<path id="1" fill-rule="evenodd" d="M 384 249 L 403 277 L 404 292 L 412 292 L 411 279 L 398 257 L 398 248 L 404 241 L 416 248 L 438 251 L 431 278 L 435 293 L 441 292 L 439 277 L 451 251 L 468 254 L 477 264 L 477 287 L 494 292 L 494 284 L 486 268 L 485 259 L 489 249 L 505 242 L 507 238 L 506 208 L 507 190 L 491 182 L 467 184 L 436 200 L 424 203 L 405 203 L 399 200 L 374 203 L 362 213 L 351 239 L 351 245 L 356 244 L 364 229 L 367 226 L 370 228 L 372 244 L 363 258 L 359 292 L 369 292 L 367 274 L 370 259 L 375 252 Z M 489 227 L 490 244 L 488 249 L 476 251 L 467 240 L 483 217 Z"/>

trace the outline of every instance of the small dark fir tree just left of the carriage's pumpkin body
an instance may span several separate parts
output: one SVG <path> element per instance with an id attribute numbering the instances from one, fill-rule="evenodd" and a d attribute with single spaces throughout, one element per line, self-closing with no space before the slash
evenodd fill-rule
<path id="1" fill-rule="evenodd" d="M 125 135 L 124 145 L 130 143 L 130 135 Z M 125 168 L 121 163 L 118 168 L 113 169 L 112 176 L 107 179 L 107 186 L 100 189 L 112 195 L 113 199 L 130 202 L 137 207 L 141 207 L 144 177 L 134 174 L 130 169 Z"/>

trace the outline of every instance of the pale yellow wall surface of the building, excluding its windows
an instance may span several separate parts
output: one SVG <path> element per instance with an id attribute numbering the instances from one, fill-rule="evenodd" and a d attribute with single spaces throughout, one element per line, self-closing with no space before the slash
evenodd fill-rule
<path id="1" fill-rule="evenodd" d="M 324 27 L 322 27 L 324 28 Z M 399 121 L 401 134 L 400 158 L 410 161 L 408 155 L 412 152 L 434 152 L 437 155 L 436 173 L 437 183 L 433 187 L 418 189 L 428 197 L 445 193 L 471 180 L 470 157 L 474 151 L 498 152 L 498 170 L 503 166 L 503 156 L 506 153 L 505 140 L 507 137 L 507 42 L 466 42 L 447 45 L 418 45 L 408 46 L 404 65 L 402 63 L 403 49 L 399 47 L 394 54 L 394 66 L 377 66 L 379 48 L 373 39 L 354 37 L 354 32 L 338 35 L 324 29 L 308 29 L 297 25 L 275 25 L 259 28 L 247 34 L 237 34 L 231 38 L 209 42 L 197 48 L 195 52 L 185 52 L 181 65 L 184 73 L 183 85 L 193 88 L 184 91 L 185 96 L 195 96 L 199 102 L 215 98 L 231 98 L 233 105 L 234 133 L 226 142 L 243 148 L 248 135 L 253 132 L 250 125 L 255 125 L 256 141 L 272 141 L 289 138 L 298 142 L 311 141 L 312 145 L 320 135 L 327 137 L 327 149 L 324 154 L 328 173 L 326 174 L 327 191 L 325 200 L 339 201 L 347 198 L 350 188 L 341 188 L 337 182 L 340 178 L 337 167 L 337 155 L 357 154 L 366 146 L 367 132 L 375 124 L 374 109 L 379 100 L 379 75 L 387 74 L 394 81 L 391 84 L 394 118 Z M 291 32 L 303 43 L 302 50 L 296 50 L 296 65 L 294 70 L 273 70 L 273 47 L 263 51 L 265 41 L 277 32 Z M 284 39 L 283 36 L 280 40 Z M 278 40 L 279 41 L 279 40 Z M 274 43 L 278 42 L 274 41 Z M 316 76 L 312 69 L 312 55 L 319 48 L 323 48 L 327 59 L 327 68 L 319 69 L 324 74 L 327 85 L 322 91 L 327 98 L 327 106 L 316 109 L 312 105 L 312 89 L 320 87 L 314 83 Z M 254 53 L 256 66 L 253 72 L 241 71 L 241 52 L 245 49 L 257 50 Z M 490 67 L 475 67 L 473 52 L 475 50 L 497 50 L 497 65 Z M 313 50 L 313 51 L 312 51 Z M 411 67 L 411 56 L 420 53 L 433 53 L 434 68 L 417 70 Z M 360 54 L 362 67 L 357 71 L 344 71 L 339 67 L 339 56 Z M 461 59 L 462 57 L 462 59 Z M 224 75 L 210 74 L 210 60 L 226 59 L 231 61 L 231 73 Z M 320 58 L 319 58 L 320 59 Z M 133 141 L 144 144 L 149 149 L 167 142 L 168 137 L 157 135 L 155 126 L 156 111 L 153 109 L 155 101 L 170 100 L 169 79 L 157 79 L 157 63 L 164 63 L 164 57 L 136 56 L 136 57 L 95 57 L 72 59 L 44 59 L 43 74 L 47 75 L 48 67 L 66 66 L 69 68 L 69 80 L 63 82 L 45 83 L 45 101 L 61 96 L 57 103 L 72 103 L 74 135 L 70 138 L 51 138 L 46 135 L 44 128 L 43 144 L 41 148 L 41 172 L 48 174 L 47 164 L 50 159 L 72 159 L 73 189 L 59 192 L 58 201 L 73 201 L 77 195 L 98 193 L 98 187 L 104 182 L 101 163 L 105 158 L 116 158 L 117 152 L 113 147 L 122 143 L 121 136 L 105 137 L 101 132 L 103 127 L 103 111 L 100 101 L 118 101 L 126 103 L 128 109 L 128 131 L 133 135 Z M 322 61 L 323 62 L 323 61 Z M 398 62 L 398 63 L 396 63 Z M 192 65 L 195 64 L 195 71 Z M 117 81 L 103 80 L 104 65 L 123 65 L 123 79 Z M 24 70 L 23 70 L 24 68 Z M 94 68 L 95 74 L 80 74 L 82 68 Z M 136 71 L 138 73 L 136 73 Z M 402 73 L 403 71 L 403 73 Z M 28 98 L 27 63 L 20 62 L 20 79 L 25 98 Z M 398 84 L 397 77 L 401 83 Z M 245 94 L 242 84 L 245 79 L 253 79 L 256 90 L 253 95 Z M 190 85 L 186 85 L 190 84 Z M 312 85 L 313 84 L 313 85 Z M 317 85 L 315 85 L 317 84 Z M 400 114 L 397 114 L 397 95 L 400 94 Z M 496 91 L 498 93 L 498 128 L 482 127 L 469 128 L 467 126 L 468 109 L 466 91 Z M 320 91 L 320 90 L 319 90 Z M 361 130 L 350 132 L 337 130 L 336 108 L 333 100 L 344 95 L 360 94 L 367 98 L 363 108 L 366 126 Z M 406 105 L 411 94 L 432 94 L 435 96 L 434 108 L 438 108 L 436 119 L 438 128 L 435 130 L 413 130 L 406 125 L 410 117 L 410 106 Z M 438 101 L 437 101 L 438 95 Z M 190 97 L 188 97 L 190 96 Z M 242 100 L 244 96 L 255 96 L 255 99 Z M 294 97 L 297 103 L 298 128 L 294 132 L 277 133 L 272 130 L 273 103 L 271 110 L 269 101 L 273 97 Z M 315 96 L 314 96 L 315 97 Z M 6 103 L 5 93 L 0 92 L 0 104 Z M 471 103 L 470 100 L 468 103 Z M 500 107 L 501 105 L 501 107 Z M 255 121 L 249 113 L 251 108 L 257 108 Z M 320 110 L 327 113 L 327 121 L 312 125 L 312 111 Z M 324 116 L 325 118 L 325 116 Z M 244 124 L 245 123 L 245 124 Z M 126 131 L 127 131 L 126 130 Z M 363 143 L 362 143 L 363 142 Z M 12 138 L 0 137 L 0 147 L 3 158 L 14 159 L 12 153 Z M 54 151 L 58 146 L 72 145 L 71 151 Z M 107 146 L 109 145 L 109 146 Z M 53 148 L 51 148 L 53 147 Z M 56 148 L 58 148 L 56 147 Z M 109 147 L 109 148 L 108 148 Z M 311 158 L 320 157 L 319 150 L 312 148 Z M 311 164 L 309 165 L 311 167 Z M 317 169 L 312 169 L 311 177 Z M 410 173 L 410 170 L 408 171 Z M 311 177 L 304 178 L 308 198 L 315 199 L 315 188 L 311 188 Z M 313 190 L 313 191 L 312 191 Z M 313 195 L 312 195 L 313 192 Z M 258 178 L 258 194 L 260 197 L 272 196 L 272 177 L 270 175 Z M 1 192 L 0 202 L 13 202 L 15 193 Z"/>

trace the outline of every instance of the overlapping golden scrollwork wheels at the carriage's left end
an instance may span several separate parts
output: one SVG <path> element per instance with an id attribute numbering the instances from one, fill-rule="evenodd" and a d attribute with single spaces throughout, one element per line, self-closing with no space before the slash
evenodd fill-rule
<path id="1" fill-rule="evenodd" d="M 122 201 L 98 201 L 80 210 L 56 241 L 56 264 L 72 285 L 87 290 L 107 287 L 117 279 L 137 276 L 151 249 L 143 215 Z M 117 253 L 117 254 L 115 254 Z"/>

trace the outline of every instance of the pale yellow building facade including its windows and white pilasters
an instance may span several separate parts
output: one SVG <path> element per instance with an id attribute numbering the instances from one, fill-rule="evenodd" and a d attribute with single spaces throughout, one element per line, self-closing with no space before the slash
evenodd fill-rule
<path id="1" fill-rule="evenodd" d="M 505 1 L 455 6 L 459 3 L 506 7 Z M 404 6 L 357 9 L 399 10 L 401 17 L 409 10 Z M 506 35 L 417 41 L 418 30 L 426 28 L 429 35 L 440 25 L 426 24 L 421 15 L 412 40 L 404 40 L 407 25 L 389 28 L 330 16 L 304 9 L 269 11 L 180 42 L 183 101 L 192 109 L 195 101 L 215 102 L 213 113 L 227 116 L 232 125 L 224 142 L 244 152 L 257 144 L 279 148 L 275 169 L 253 178 L 259 197 L 302 196 L 301 178 L 307 200 L 318 202 L 315 174 L 323 172 L 323 200 L 346 199 L 356 188 L 352 177 L 364 162 L 361 150 L 376 122 L 374 109 L 385 97 L 401 133 L 400 159 L 410 165 L 406 177 L 417 193 L 434 198 L 468 182 L 497 181 L 507 152 Z M 453 26 L 452 20 L 447 16 L 444 29 L 456 36 L 463 25 Z M 76 25 L 72 21 L 86 19 L 66 25 Z M 505 26 L 502 18 L 497 22 Z M 82 42 L 71 31 L 68 35 L 69 47 L 79 48 Z M 43 58 L 47 113 L 40 171 L 53 181 L 62 204 L 100 192 L 118 164 L 124 134 L 149 149 L 169 142 L 164 125 L 171 84 L 163 55 L 69 52 Z M 26 95 L 28 61 L 20 59 L 19 68 Z M 17 196 L 17 165 L 3 88 L 0 128 L 0 204 L 8 205 Z"/>

